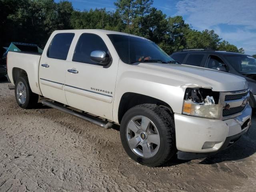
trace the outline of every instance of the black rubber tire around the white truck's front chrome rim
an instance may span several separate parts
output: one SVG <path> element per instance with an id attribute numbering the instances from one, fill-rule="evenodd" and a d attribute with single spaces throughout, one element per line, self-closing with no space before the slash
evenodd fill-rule
<path id="1" fill-rule="evenodd" d="M 158 152 L 153 157 L 143 158 L 139 156 L 128 144 L 126 128 L 128 122 L 135 116 L 145 116 L 157 127 L 160 136 L 160 146 Z M 122 118 L 120 137 L 122 145 L 130 158 L 146 166 L 160 166 L 170 160 L 177 152 L 174 120 L 164 108 L 160 108 L 155 104 L 141 104 L 130 108 Z"/>

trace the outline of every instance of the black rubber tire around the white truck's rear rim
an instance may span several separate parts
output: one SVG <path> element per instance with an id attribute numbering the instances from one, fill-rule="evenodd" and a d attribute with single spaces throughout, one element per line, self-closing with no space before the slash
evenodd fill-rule
<path id="1" fill-rule="evenodd" d="M 19 82 L 22 82 L 26 88 L 26 100 L 23 104 L 20 103 L 20 101 L 18 100 L 18 95 L 17 95 L 17 87 L 18 87 Z M 28 79 L 24 78 L 24 77 L 19 77 L 15 82 L 15 98 L 16 98 L 16 102 L 18 103 L 18 105 L 24 109 L 36 108 L 36 106 L 38 105 L 38 94 L 35 94 L 31 91 L 29 83 L 28 83 Z"/>

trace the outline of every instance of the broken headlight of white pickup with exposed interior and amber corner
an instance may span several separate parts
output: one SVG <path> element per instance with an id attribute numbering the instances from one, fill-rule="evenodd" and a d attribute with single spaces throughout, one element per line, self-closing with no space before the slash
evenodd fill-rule
<path id="1" fill-rule="evenodd" d="M 218 101 L 219 92 L 205 88 L 187 88 L 184 96 L 182 114 L 219 119 L 221 107 Z"/>

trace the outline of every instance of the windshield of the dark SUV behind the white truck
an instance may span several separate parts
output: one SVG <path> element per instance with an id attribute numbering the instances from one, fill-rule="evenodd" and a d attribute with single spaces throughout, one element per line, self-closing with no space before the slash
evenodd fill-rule
<path id="1" fill-rule="evenodd" d="M 226 55 L 228 62 L 240 73 L 256 73 L 256 59 L 248 55 Z"/>

